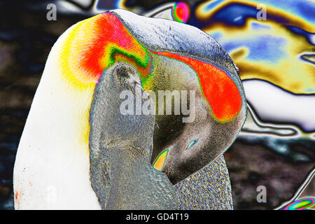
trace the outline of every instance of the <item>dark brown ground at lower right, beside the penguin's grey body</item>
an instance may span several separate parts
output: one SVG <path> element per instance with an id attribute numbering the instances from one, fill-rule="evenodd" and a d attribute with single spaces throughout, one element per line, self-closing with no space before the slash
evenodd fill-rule
<path id="1" fill-rule="evenodd" d="M 265 146 L 244 144 L 241 141 L 236 141 L 225 153 L 225 160 L 235 209 L 274 209 L 281 202 L 289 200 L 311 169 L 314 169 L 314 162 L 293 162 Z M 266 203 L 256 200 L 258 186 L 266 187 Z"/>

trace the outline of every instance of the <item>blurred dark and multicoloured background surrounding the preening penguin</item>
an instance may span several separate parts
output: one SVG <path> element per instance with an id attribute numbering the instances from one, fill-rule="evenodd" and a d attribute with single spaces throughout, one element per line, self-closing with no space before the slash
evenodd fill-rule
<path id="1" fill-rule="evenodd" d="M 235 209 L 315 196 L 315 1 L 10 0 L 0 1 L 0 209 L 13 209 L 15 153 L 52 45 L 115 8 L 198 27 L 239 67 L 248 118 L 225 153 Z"/>

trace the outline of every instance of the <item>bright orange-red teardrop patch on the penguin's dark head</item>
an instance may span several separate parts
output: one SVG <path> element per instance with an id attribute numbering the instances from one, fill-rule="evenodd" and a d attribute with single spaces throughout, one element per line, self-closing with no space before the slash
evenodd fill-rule
<path id="1" fill-rule="evenodd" d="M 185 62 L 197 73 L 202 94 L 209 102 L 214 118 L 221 123 L 233 120 L 241 109 L 241 95 L 237 85 L 225 71 L 190 57 L 169 52 L 155 52 Z"/>

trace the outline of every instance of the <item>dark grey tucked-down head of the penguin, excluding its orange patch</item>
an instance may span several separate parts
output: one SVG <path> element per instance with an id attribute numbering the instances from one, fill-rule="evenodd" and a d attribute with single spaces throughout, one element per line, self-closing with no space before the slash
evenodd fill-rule
<path id="1" fill-rule="evenodd" d="M 155 94 L 158 96 L 160 90 L 179 90 L 180 93 L 184 90 L 188 99 L 187 105 L 181 104 L 179 115 L 174 114 L 174 97 L 172 114 L 159 115 L 157 109 L 155 116 L 151 163 L 176 184 L 209 165 L 229 148 L 244 123 L 246 104 L 243 102 L 235 118 L 222 122 L 215 117 L 191 66 L 162 55 L 154 59 L 158 64 L 153 73 L 156 84 L 151 86 Z M 159 99 L 156 101 L 160 104 Z M 181 99 L 181 102 L 185 103 L 185 100 Z M 183 109 L 190 112 L 183 114 Z M 184 118 L 188 122 L 183 122 Z"/>

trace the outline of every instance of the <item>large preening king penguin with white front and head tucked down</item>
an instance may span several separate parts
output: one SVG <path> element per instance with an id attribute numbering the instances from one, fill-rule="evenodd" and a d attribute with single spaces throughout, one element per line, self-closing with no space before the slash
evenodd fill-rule
<path id="1" fill-rule="evenodd" d="M 127 135 L 129 144 L 126 139 L 121 140 L 126 130 L 119 132 L 118 126 L 113 127 L 119 123 L 114 118 L 119 116 L 113 113 L 117 106 L 109 105 L 116 99 L 110 101 L 104 97 L 104 92 L 102 97 L 97 97 L 99 92 L 106 90 L 106 84 L 100 85 L 102 80 L 107 80 L 102 77 L 111 74 L 113 78 L 115 72 L 111 69 L 117 69 L 121 63 L 129 64 L 131 67 L 127 70 L 131 69 L 131 73 L 137 72 L 138 76 L 132 77 L 139 77 L 137 82 L 145 91 L 167 90 L 167 86 L 174 90 L 185 89 L 180 81 L 184 77 L 181 73 L 171 72 L 170 76 L 161 77 L 174 68 L 190 71 L 188 76 L 194 77 L 193 83 L 198 83 L 198 87 L 193 87 L 199 91 L 198 110 L 204 111 L 197 116 L 199 121 L 183 128 L 187 130 L 185 132 L 169 135 L 167 129 L 160 128 L 162 124 L 169 124 L 169 117 L 155 121 L 146 118 L 146 125 L 140 122 L 141 116 L 134 121 L 125 118 L 123 120 L 130 122 L 129 125 L 139 122 L 136 133 L 144 137 L 142 132 L 146 132 L 147 136 L 141 144 L 140 137 Z M 102 109 L 111 113 L 103 113 Z M 209 35 L 189 25 L 144 18 L 126 10 L 113 10 L 83 20 L 67 29 L 48 55 L 16 155 L 13 172 L 15 209 L 176 208 L 176 203 L 170 202 L 176 195 L 165 174 L 176 186 L 197 172 L 203 173 L 205 167 L 213 162 L 212 172 L 226 177 L 222 153 L 235 141 L 245 118 L 244 90 L 236 66 Z M 149 141 L 152 122 L 155 123 L 153 146 Z M 100 130 L 98 125 L 101 125 Z M 196 130 L 203 132 L 197 133 Z M 194 140 L 194 135 L 199 139 Z M 140 153 L 134 157 L 131 142 Z M 195 148 L 193 145 L 197 146 L 196 151 L 190 150 Z M 121 153 L 111 153 L 113 148 L 120 148 Z M 167 148 L 169 156 L 160 161 L 162 166 L 157 167 L 158 158 L 162 158 L 160 155 Z M 155 170 L 147 164 L 150 151 L 149 160 Z M 125 163 L 129 170 L 124 170 L 120 162 L 123 156 L 134 159 Z M 222 162 L 214 162 L 217 159 Z M 186 162 L 193 166 L 186 166 Z M 120 167 L 117 172 L 121 172 L 118 176 L 116 172 L 110 172 L 117 167 Z M 122 197 L 132 196 L 130 188 L 134 187 L 124 185 L 125 181 L 139 183 L 139 179 L 124 179 L 127 172 L 137 169 L 139 172 L 134 174 L 144 175 L 148 180 L 139 186 L 146 190 L 152 186 L 155 190 L 146 193 L 153 193 L 156 203 L 148 202 L 148 197 L 144 197 L 144 200 L 136 200 L 139 203 L 132 207 L 132 201 L 127 202 Z M 210 175 L 211 172 L 206 173 Z M 198 180 L 203 176 L 192 178 Z M 155 181 L 149 183 L 152 177 Z M 186 181 L 185 186 L 189 183 Z M 213 183 L 214 188 L 218 185 L 230 186 L 230 182 L 225 178 L 223 183 Z M 177 188 L 179 197 L 183 196 L 183 189 Z M 165 199 L 160 196 L 165 196 Z M 192 197 L 196 199 L 197 195 L 194 193 Z M 203 197 L 207 197 L 207 193 Z M 192 203 L 190 200 L 186 207 L 193 207 Z"/>

